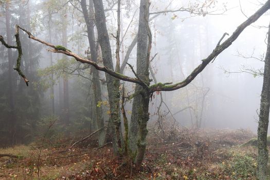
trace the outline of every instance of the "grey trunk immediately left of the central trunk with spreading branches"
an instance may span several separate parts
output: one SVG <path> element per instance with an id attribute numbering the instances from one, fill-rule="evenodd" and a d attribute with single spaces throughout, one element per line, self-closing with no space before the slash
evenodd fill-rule
<path id="1" fill-rule="evenodd" d="M 98 30 L 98 41 L 101 47 L 102 52 L 102 61 L 103 64 L 111 69 L 114 70 L 113 67 L 113 59 L 112 59 L 112 51 L 111 51 L 111 45 L 110 45 L 110 38 L 109 34 L 107 32 L 106 27 L 106 19 L 105 19 L 105 13 L 103 8 L 103 3 L 101 0 L 95 0 L 94 1 L 94 7 L 96 12 L 96 26 Z M 114 124 L 113 128 L 113 145 L 114 145 L 114 152 L 116 154 L 120 153 L 120 147 L 115 146 L 117 145 L 117 142 L 119 141 L 119 138 L 122 139 L 121 136 L 122 133 L 120 133 L 120 93 L 119 93 L 119 86 L 120 86 L 120 80 L 117 78 L 112 77 L 109 74 L 105 74 L 106 76 L 106 84 L 107 84 L 107 91 L 109 95 L 109 103 L 110 103 L 110 124 Z M 116 132 L 118 131 L 118 132 Z M 117 137 L 118 136 L 118 137 Z"/>

